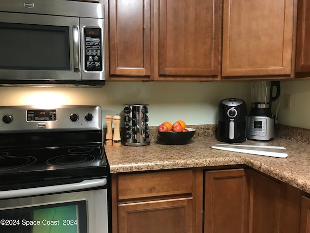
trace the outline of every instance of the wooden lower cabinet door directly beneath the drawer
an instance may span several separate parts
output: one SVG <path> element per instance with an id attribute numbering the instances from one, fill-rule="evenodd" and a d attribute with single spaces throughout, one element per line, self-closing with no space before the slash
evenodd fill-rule
<path id="1" fill-rule="evenodd" d="M 192 198 L 118 205 L 119 233 L 192 233 Z"/>

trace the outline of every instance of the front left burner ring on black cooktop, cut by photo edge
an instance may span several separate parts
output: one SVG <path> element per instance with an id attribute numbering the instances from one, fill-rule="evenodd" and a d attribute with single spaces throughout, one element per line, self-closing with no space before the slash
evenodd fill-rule
<path id="1" fill-rule="evenodd" d="M 7 171 L 35 163 L 36 158 L 32 156 L 6 156 L 0 157 L 0 171 Z"/>

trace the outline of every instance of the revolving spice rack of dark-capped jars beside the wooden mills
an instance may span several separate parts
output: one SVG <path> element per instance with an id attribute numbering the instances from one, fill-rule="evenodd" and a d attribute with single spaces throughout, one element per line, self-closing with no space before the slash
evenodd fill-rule
<path id="1" fill-rule="evenodd" d="M 126 146 L 145 146 L 150 144 L 149 139 L 149 110 L 148 104 L 125 104 L 124 106 L 124 138 Z"/>

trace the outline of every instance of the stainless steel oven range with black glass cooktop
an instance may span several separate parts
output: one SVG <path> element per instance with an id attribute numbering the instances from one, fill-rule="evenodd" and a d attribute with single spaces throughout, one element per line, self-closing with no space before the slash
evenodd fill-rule
<path id="1" fill-rule="evenodd" d="M 99 106 L 0 107 L 0 233 L 110 233 Z"/>

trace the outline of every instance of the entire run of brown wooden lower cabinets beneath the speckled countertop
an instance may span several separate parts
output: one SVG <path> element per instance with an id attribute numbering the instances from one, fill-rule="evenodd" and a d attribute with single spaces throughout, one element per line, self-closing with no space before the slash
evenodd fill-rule
<path id="1" fill-rule="evenodd" d="M 113 233 L 310 233 L 309 194 L 239 167 L 112 174 Z"/>

